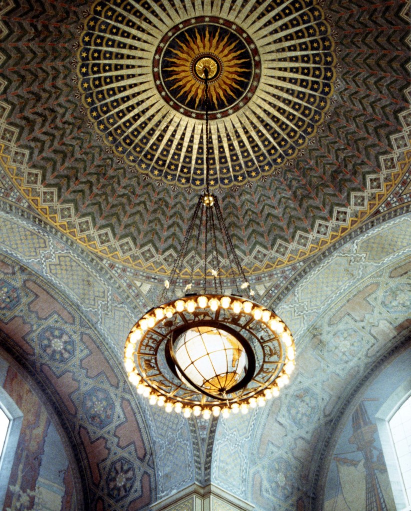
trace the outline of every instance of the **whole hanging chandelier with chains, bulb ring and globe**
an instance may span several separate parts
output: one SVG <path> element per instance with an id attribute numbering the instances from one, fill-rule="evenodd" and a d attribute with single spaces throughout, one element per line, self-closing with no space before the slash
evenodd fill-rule
<path id="1" fill-rule="evenodd" d="M 209 80 L 212 56 L 196 61 L 204 82 L 205 187 L 199 196 L 159 305 L 131 329 L 124 362 L 129 381 L 150 404 L 189 417 L 246 413 L 278 396 L 294 368 L 294 340 L 275 312 L 253 300 L 217 197 L 210 193 Z M 194 247 L 190 257 L 188 249 Z M 194 266 L 203 247 L 203 286 Z M 184 261 L 191 262 L 187 294 L 171 300 Z M 236 294 L 226 294 L 222 267 L 229 265 Z M 229 272 L 230 273 L 230 272 Z M 238 281 L 241 280 L 240 286 Z M 194 292 L 199 287 L 198 292 Z M 168 299 L 167 299 L 168 298 Z"/>

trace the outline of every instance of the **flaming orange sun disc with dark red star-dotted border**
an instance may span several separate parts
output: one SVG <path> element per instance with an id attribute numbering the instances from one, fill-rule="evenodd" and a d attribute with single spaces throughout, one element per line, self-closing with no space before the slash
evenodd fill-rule
<path id="1" fill-rule="evenodd" d="M 171 29 L 159 43 L 153 69 L 159 93 L 179 113 L 204 118 L 204 69 L 210 80 L 210 119 L 243 107 L 260 81 L 253 40 L 224 20 L 201 17 Z M 163 94 L 166 92 L 166 94 Z"/>

